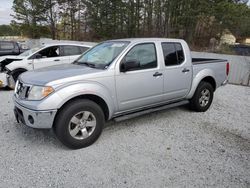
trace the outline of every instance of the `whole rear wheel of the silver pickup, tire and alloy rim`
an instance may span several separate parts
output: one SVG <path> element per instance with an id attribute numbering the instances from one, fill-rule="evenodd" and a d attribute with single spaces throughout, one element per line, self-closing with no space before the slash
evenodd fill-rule
<path id="1" fill-rule="evenodd" d="M 190 100 L 190 108 L 196 112 L 205 112 L 211 106 L 213 97 L 213 86 L 208 82 L 201 81 Z"/>

